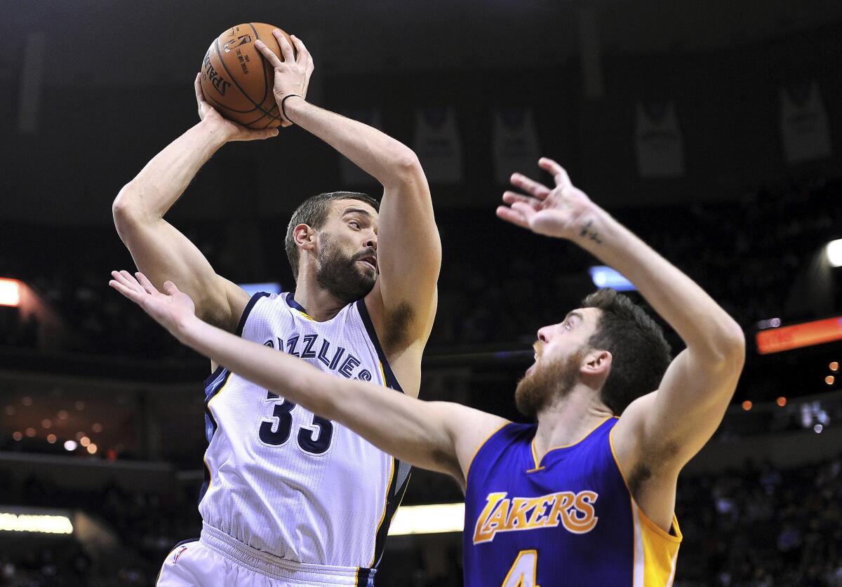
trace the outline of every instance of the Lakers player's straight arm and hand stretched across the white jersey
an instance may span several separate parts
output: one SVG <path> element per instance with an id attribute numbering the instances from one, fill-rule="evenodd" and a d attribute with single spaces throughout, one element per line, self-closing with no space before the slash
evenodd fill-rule
<path id="1" fill-rule="evenodd" d="M 506 420 L 447 402 L 426 402 L 374 383 L 324 373 L 297 357 L 246 341 L 195 315 L 193 300 L 172 283 L 158 292 L 142 274 L 112 272 L 111 287 L 140 305 L 173 336 L 211 361 L 307 410 L 336 420 L 384 452 L 440 473 L 464 487 L 480 443 Z"/>

